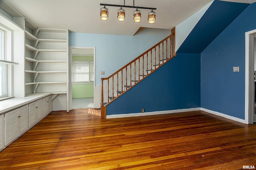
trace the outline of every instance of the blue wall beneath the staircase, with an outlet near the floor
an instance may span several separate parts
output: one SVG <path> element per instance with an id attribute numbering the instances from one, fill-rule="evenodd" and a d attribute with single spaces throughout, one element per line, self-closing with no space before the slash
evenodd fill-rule
<path id="1" fill-rule="evenodd" d="M 131 107 L 132 106 L 132 107 Z M 107 115 L 200 107 L 200 54 L 182 54 L 107 106 Z"/>

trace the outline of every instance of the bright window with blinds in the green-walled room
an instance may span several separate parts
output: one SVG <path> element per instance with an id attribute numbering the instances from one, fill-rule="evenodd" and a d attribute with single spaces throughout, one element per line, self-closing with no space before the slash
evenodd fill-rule
<path id="1" fill-rule="evenodd" d="M 73 82 L 84 83 L 94 81 L 93 61 L 73 61 Z"/>

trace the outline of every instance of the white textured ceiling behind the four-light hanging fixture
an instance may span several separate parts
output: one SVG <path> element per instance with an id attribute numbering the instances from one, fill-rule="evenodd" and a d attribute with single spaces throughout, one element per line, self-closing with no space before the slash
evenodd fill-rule
<path id="1" fill-rule="evenodd" d="M 108 21 L 100 20 L 100 3 L 124 5 L 124 0 L 5 0 L 37 27 L 69 29 L 72 32 L 134 35 L 140 27 L 172 29 L 212 0 L 126 0 L 127 6 L 157 8 L 156 23 L 148 24 L 150 10 L 140 9 L 142 21 L 133 22 L 135 8 L 126 10 L 126 20 L 117 21 L 119 7 L 107 6 Z M 253 3 L 256 0 L 226 0 Z"/>

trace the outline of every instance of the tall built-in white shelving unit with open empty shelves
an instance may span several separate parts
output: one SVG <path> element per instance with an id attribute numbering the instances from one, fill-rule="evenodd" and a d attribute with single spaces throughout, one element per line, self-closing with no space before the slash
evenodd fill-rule
<path id="1" fill-rule="evenodd" d="M 25 30 L 26 95 L 52 92 L 65 95 L 68 108 L 68 30 Z M 54 98 L 56 98 L 56 96 Z"/>

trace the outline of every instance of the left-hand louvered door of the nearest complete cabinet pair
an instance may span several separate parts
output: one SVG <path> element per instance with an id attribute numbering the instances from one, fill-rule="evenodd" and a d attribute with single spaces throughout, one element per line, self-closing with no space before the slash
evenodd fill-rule
<path id="1" fill-rule="evenodd" d="M 18 109 L 5 113 L 5 145 L 18 137 Z"/>

